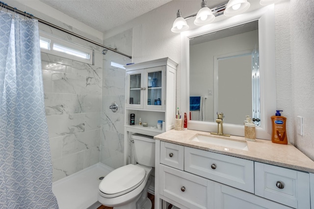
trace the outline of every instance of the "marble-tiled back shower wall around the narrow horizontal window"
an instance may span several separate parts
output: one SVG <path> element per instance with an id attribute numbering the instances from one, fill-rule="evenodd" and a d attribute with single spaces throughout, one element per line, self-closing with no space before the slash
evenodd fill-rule
<path id="1" fill-rule="evenodd" d="M 69 25 L 63 28 L 82 33 Z M 100 162 L 103 55 L 100 46 L 44 24 L 40 30 L 95 50 L 95 65 L 41 53 L 53 181 L 57 181 Z"/>

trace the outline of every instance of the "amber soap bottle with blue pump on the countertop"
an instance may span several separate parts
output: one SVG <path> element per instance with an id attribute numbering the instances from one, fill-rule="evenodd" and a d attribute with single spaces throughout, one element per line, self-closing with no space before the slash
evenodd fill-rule
<path id="1" fill-rule="evenodd" d="M 271 116 L 272 135 L 271 141 L 278 144 L 288 144 L 286 121 L 287 118 L 281 116 L 282 110 L 276 110 L 276 115 Z"/>

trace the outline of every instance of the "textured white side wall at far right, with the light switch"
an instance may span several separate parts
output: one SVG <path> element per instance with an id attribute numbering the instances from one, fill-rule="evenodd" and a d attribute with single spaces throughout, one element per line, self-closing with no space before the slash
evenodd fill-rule
<path id="1" fill-rule="evenodd" d="M 314 160 L 314 1 L 290 0 L 293 138 Z M 303 117 L 303 136 L 296 133 L 296 116 Z"/>

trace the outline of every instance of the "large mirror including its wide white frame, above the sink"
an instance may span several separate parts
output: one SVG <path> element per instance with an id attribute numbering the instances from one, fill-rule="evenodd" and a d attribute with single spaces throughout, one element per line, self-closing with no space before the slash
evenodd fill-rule
<path id="1" fill-rule="evenodd" d="M 245 26 L 253 29 L 245 31 Z M 215 40 L 209 41 L 211 42 L 211 46 L 206 46 L 203 49 L 197 49 L 197 47 L 194 47 L 198 45 L 195 44 L 198 42 L 198 39 L 205 39 L 205 34 L 211 34 L 211 36 L 228 39 L 228 37 L 226 37 L 227 35 L 222 35 L 221 32 L 241 30 L 241 28 L 243 31 L 240 32 L 240 34 L 235 34 L 234 36 L 245 37 L 254 34 L 254 38 L 250 37 L 251 41 L 249 41 L 248 37 L 246 37 L 248 43 L 241 44 L 250 45 L 250 47 L 240 48 L 238 46 L 239 48 L 237 50 L 229 52 L 222 51 L 222 48 L 218 46 L 219 44 L 215 45 Z M 206 102 L 210 106 L 205 110 L 205 112 L 208 112 L 209 115 L 200 115 L 200 111 L 198 114 L 196 111 L 191 111 L 192 120 L 189 120 L 188 122 L 189 129 L 216 132 L 217 124 L 214 122 L 216 112 L 224 112 L 224 133 L 235 136 L 244 136 L 243 121 L 246 115 L 254 117 L 253 112 L 255 111 L 255 103 L 253 100 L 256 99 L 255 97 L 259 97 L 260 114 L 258 118 L 260 123 L 256 129 L 257 138 L 270 139 L 270 116 L 274 115 L 276 110 L 274 32 L 274 5 L 269 5 L 181 33 L 181 47 L 183 50 L 181 60 L 182 109 L 185 112 L 190 112 L 190 96 L 202 96 L 203 99 L 207 100 Z M 199 44 L 199 46 L 200 45 L 205 46 L 206 44 L 203 43 Z M 202 51 L 202 55 L 198 54 L 198 50 Z M 213 51 L 214 55 L 211 58 L 206 58 L 204 57 L 208 56 L 205 54 L 206 51 Z M 260 90 L 258 95 L 256 93 L 252 93 L 255 91 L 254 86 L 252 87 L 252 83 L 254 83 L 252 81 L 253 57 L 259 58 L 258 67 L 260 70 L 260 82 L 258 82 L 258 85 L 255 83 L 256 88 Z M 207 71 L 208 74 L 206 75 L 205 71 L 202 72 L 202 70 L 206 70 L 206 68 L 208 70 L 209 66 L 207 65 L 209 64 L 202 62 L 204 62 L 204 60 L 208 62 L 209 59 L 212 59 L 212 63 L 210 64 L 212 73 L 209 74 Z M 237 67 L 235 66 L 235 63 L 233 63 L 234 61 L 237 64 L 248 62 L 246 65 L 248 67 L 239 67 L 242 70 L 244 68 L 248 68 L 245 74 L 241 75 L 241 72 L 236 70 Z M 220 71 L 220 67 L 226 67 L 231 71 Z M 200 77 L 196 78 L 196 76 Z M 244 79 L 243 76 L 246 78 Z M 207 84 L 202 82 L 207 82 Z M 200 90 L 201 92 L 197 92 Z M 202 101 L 201 103 L 204 104 Z M 244 107 L 245 105 L 246 107 Z M 203 119 L 204 117 L 205 119 Z"/>

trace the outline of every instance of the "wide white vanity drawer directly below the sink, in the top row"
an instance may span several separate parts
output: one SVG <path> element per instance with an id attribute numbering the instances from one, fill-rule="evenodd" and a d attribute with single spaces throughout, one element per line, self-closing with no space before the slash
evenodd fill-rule
<path id="1" fill-rule="evenodd" d="M 254 193 L 254 162 L 184 147 L 184 170 Z"/>

